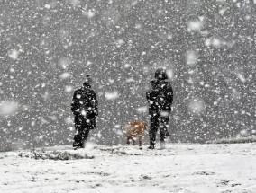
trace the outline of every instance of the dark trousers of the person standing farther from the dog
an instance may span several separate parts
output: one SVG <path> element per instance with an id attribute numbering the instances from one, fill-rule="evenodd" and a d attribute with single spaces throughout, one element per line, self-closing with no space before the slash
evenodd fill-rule
<path id="1" fill-rule="evenodd" d="M 95 118 L 84 118 L 83 116 L 75 116 L 75 128 L 77 134 L 74 136 L 73 147 L 84 148 L 89 132 L 96 127 Z"/>

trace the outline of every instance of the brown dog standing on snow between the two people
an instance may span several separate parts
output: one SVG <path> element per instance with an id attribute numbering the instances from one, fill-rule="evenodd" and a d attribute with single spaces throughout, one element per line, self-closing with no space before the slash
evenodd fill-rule
<path id="1" fill-rule="evenodd" d="M 139 146 L 142 148 L 142 136 L 144 134 L 144 130 L 146 129 L 147 124 L 141 120 L 133 120 L 127 125 L 127 145 L 130 144 L 130 140 L 133 141 L 133 145 L 135 145 L 134 137 L 139 137 Z"/>

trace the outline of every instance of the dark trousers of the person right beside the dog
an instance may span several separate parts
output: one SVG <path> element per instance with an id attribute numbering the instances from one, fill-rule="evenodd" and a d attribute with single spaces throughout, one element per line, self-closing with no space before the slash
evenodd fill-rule
<path id="1" fill-rule="evenodd" d="M 161 116 L 159 113 L 151 114 L 151 128 L 149 131 L 151 145 L 155 144 L 158 128 L 160 128 L 160 141 L 164 141 L 164 138 L 168 132 L 167 126 L 169 122 L 169 113 L 166 116 Z"/>

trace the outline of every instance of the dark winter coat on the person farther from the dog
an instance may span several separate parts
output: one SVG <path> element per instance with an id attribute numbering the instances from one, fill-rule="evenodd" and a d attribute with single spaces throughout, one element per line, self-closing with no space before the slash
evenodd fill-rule
<path id="1" fill-rule="evenodd" d="M 71 110 L 75 116 L 95 119 L 98 115 L 97 105 L 96 93 L 87 85 L 74 92 Z"/>

